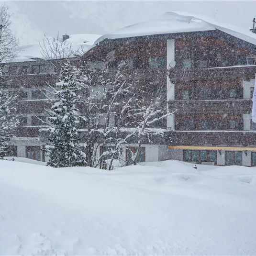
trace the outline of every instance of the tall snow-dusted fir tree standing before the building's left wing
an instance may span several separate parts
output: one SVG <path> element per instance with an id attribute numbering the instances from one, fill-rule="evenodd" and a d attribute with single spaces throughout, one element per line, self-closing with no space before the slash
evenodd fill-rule
<path id="1" fill-rule="evenodd" d="M 61 68 L 59 82 L 56 83 L 55 103 L 49 113 L 50 132 L 45 146 L 48 162 L 52 167 L 74 167 L 86 165 L 86 154 L 79 145 L 78 125 L 81 116 L 76 104 L 79 96 L 73 67 L 68 60 Z"/>

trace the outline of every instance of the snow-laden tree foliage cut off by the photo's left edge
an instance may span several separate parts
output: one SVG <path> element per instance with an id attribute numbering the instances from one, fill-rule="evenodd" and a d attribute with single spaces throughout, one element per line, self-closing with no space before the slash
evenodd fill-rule
<path id="1" fill-rule="evenodd" d="M 0 79 L 1 79 L 0 69 Z M 15 97 L 7 89 L 0 89 L 0 159 L 8 155 L 8 146 L 19 123 L 16 115 Z"/>

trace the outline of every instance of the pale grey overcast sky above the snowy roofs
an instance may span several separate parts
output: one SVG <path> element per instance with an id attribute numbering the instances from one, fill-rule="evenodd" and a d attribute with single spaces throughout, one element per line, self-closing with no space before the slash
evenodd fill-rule
<path id="1" fill-rule="evenodd" d="M 3 2 L 3 1 L 2 1 Z M 167 11 L 187 11 L 246 29 L 256 17 L 256 1 L 5 1 L 14 13 L 14 29 L 22 45 L 36 43 L 44 33 L 110 33 L 150 20 Z"/>

